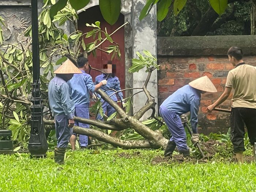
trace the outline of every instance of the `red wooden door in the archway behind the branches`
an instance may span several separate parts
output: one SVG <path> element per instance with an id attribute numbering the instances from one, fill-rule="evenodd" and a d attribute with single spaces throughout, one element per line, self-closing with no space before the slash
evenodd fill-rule
<path id="1" fill-rule="evenodd" d="M 109 25 L 103 19 L 99 6 L 97 5 L 79 14 L 78 29 L 83 31 L 83 33 L 87 33 L 88 31 L 91 31 L 94 28 L 87 27 L 86 23 L 91 24 L 91 23 L 95 23 L 96 21 L 101 22 L 100 27 L 102 31 L 105 31 L 105 27 L 106 27 L 108 34 L 111 34 L 114 30 L 116 30 L 118 27 L 124 24 L 124 15 L 120 14 L 118 21 L 113 26 Z M 122 27 L 120 30 L 114 33 L 111 37 L 113 41 L 120 46 L 121 59 L 118 59 L 116 57 L 116 59 L 112 60 L 112 64 L 116 64 L 116 76 L 120 80 L 121 89 L 125 89 L 124 27 Z M 104 33 L 102 33 L 102 38 L 105 38 Z M 90 42 L 94 42 L 93 37 L 86 38 L 84 40 L 86 44 Z M 100 48 L 106 50 L 105 47 L 108 47 L 109 45 L 110 45 L 110 42 L 105 41 Z M 112 53 L 109 55 L 108 53 L 102 52 L 100 50 L 97 50 L 96 53 L 97 53 L 96 58 L 93 57 L 93 54 L 90 54 L 88 56 L 89 64 L 93 68 L 102 69 L 103 65 L 107 64 L 108 60 L 111 60 Z M 92 76 L 93 81 L 95 81 L 95 77 L 100 74 L 101 74 L 100 72 L 97 72 L 94 70 L 91 70 L 90 72 L 90 75 Z"/>

